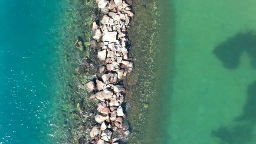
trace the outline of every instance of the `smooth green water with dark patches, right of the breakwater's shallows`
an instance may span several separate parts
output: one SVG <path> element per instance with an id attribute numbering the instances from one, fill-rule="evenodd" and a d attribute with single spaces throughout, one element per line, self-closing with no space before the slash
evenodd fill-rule
<path id="1" fill-rule="evenodd" d="M 166 39 L 174 47 L 165 47 L 174 57 L 165 64 L 173 68 L 163 69 L 162 109 L 170 111 L 163 115 L 162 141 L 255 144 L 256 1 L 164 3 L 174 17 L 174 27 L 164 27 L 174 28 Z"/>

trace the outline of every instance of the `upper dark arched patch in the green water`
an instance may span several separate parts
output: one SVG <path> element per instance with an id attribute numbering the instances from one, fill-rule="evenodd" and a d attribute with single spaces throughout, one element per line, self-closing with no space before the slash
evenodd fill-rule
<path id="1" fill-rule="evenodd" d="M 252 32 L 237 33 L 213 50 L 226 69 L 237 69 L 243 52 L 248 54 L 252 66 L 256 68 L 256 35 Z"/>

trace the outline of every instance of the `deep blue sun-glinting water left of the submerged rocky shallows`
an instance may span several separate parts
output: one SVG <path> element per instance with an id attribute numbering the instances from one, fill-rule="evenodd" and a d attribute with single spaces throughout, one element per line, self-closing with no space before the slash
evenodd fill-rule
<path id="1" fill-rule="evenodd" d="M 55 144 L 56 0 L 0 0 L 0 144 Z M 57 42 L 56 42 L 57 43 Z"/>

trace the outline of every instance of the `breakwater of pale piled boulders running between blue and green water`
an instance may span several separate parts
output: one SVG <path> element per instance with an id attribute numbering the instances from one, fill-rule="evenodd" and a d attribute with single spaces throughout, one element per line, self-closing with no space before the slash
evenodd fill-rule
<path id="1" fill-rule="evenodd" d="M 123 106 L 125 86 L 122 78 L 133 70 L 128 56 L 127 30 L 133 13 L 124 0 L 96 0 L 101 16 L 92 24 L 91 46 L 98 48 L 99 75 L 85 87 L 91 99 L 98 101 L 95 124 L 90 131 L 91 144 L 121 144 L 130 134 Z M 76 42 L 77 47 L 79 42 Z"/>

